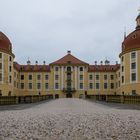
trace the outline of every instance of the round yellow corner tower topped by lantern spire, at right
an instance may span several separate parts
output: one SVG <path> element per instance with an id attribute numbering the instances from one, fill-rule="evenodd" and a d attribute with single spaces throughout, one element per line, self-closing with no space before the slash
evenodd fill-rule
<path id="1" fill-rule="evenodd" d="M 140 13 L 136 18 L 136 29 L 122 43 L 121 93 L 140 94 Z"/>

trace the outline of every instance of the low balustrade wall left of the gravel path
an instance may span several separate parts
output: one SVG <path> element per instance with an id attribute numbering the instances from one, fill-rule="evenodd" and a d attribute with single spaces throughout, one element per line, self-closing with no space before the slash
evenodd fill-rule
<path id="1" fill-rule="evenodd" d="M 0 105 L 12 105 L 21 103 L 35 103 L 44 100 L 53 99 L 53 95 L 35 95 L 35 96 L 0 96 Z"/>

